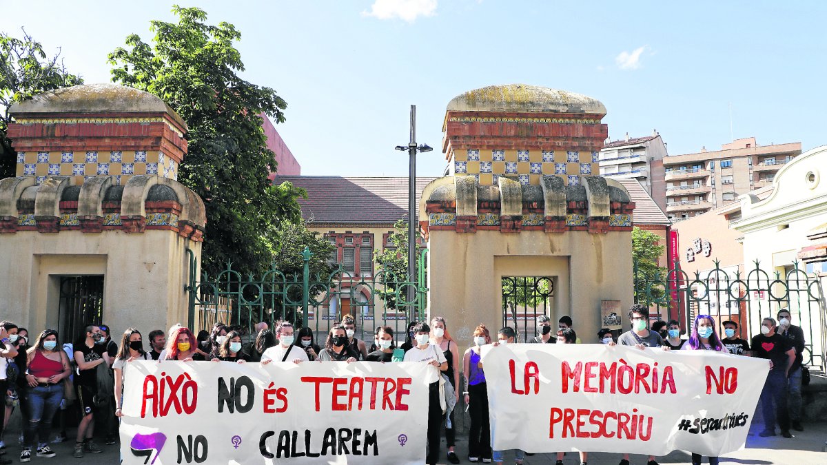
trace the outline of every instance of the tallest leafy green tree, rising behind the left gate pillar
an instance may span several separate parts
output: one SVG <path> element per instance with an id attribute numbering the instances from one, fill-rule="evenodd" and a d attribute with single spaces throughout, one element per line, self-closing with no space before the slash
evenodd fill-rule
<path id="1" fill-rule="evenodd" d="M 177 23 L 152 21 L 152 44 L 136 34 L 109 54 L 112 81 L 165 100 L 189 126 L 188 154 L 179 182 L 200 195 L 207 209 L 203 268 L 215 274 L 232 261 L 243 274 L 261 274 L 279 243 L 282 223 L 298 223 L 304 189 L 272 185 L 276 169 L 261 116 L 284 122 L 274 89 L 252 84 L 233 41 L 241 32 L 227 22 L 205 24 L 199 8 L 175 6 Z"/>

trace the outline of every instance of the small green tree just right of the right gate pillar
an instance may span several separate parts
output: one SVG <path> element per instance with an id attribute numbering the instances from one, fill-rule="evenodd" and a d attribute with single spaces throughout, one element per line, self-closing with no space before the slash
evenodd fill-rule
<path id="1" fill-rule="evenodd" d="M 666 294 L 667 269 L 658 266 L 657 261 L 666 250 L 658 245 L 662 237 L 654 232 L 632 229 L 632 261 L 636 268 L 634 276 L 634 297 L 636 302 L 649 303 L 660 300 Z"/>

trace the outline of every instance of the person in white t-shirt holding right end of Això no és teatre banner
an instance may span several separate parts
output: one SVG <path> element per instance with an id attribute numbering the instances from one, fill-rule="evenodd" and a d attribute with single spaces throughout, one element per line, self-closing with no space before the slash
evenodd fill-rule
<path id="1" fill-rule="evenodd" d="M 417 346 L 405 352 L 405 362 L 428 362 L 433 369 L 428 369 L 428 465 L 434 465 L 439 459 L 439 430 L 442 424 L 442 406 L 439 403 L 439 372 L 448 369 L 445 354 L 436 346 L 428 343 L 431 328 L 427 323 L 414 326 L 414 338 Z"/>

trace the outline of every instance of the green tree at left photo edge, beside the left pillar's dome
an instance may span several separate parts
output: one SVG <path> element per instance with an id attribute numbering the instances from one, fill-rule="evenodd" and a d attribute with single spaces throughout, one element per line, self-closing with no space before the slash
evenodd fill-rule
<path id="1" fill-rule="evenodd" d="M 12 122 L 8 110 L 12 103 L 83 82 L 84 79 L 66 71 L 60 49 L 49 57 L 41 43 L 25 30 L 22 39 L 0 32 L 0 179 L 17 175 L 17 156 L 7 137 L 8 123 Z"/>

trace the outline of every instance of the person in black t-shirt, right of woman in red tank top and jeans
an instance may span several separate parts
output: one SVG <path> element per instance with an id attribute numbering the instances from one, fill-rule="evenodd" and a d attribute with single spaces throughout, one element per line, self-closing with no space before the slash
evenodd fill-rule
<path id="1" fill-rule="evenodd" d="M 92 440 L 95 429 L 94 417 L 94 396 L 98 391 L 97 367 L 102 363 L 110 365 L 109 354 L 103 338 L 101 328 L 89 324 L 84 328 L 84 333 L 73 344 L 74 362 L 78 366 L 78 376 L 75 376 L 74 384 L 78 390 L 78 403 L 82 409 L 83 419 L 78 425 L 78 434 L 74 443 L 75 458 L 82 458 L 84 452 L 102 453 L 103 449 Z"/>

